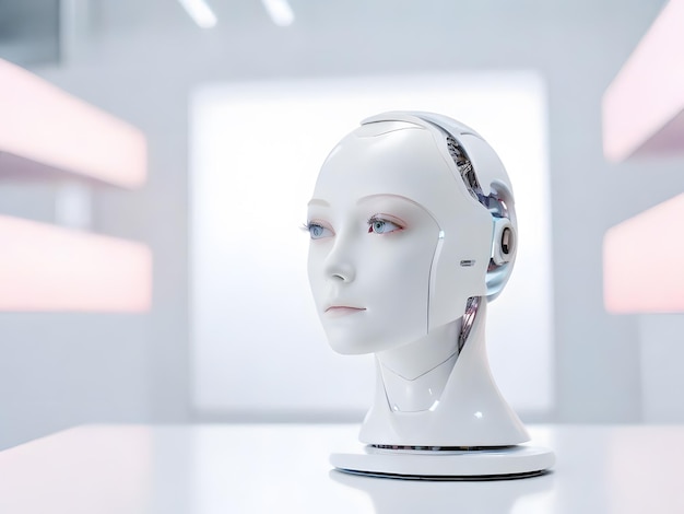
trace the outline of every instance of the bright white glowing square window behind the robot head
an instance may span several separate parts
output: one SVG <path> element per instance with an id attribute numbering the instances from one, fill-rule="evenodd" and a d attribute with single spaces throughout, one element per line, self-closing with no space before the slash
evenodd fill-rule
<path id="1" fill-rule="evenodd" d="M 191 97 L 191 344 L 200 412 L 361 412 L 370 357 L 329 349 L 306 277 L 306 203 L 334 143 L 367 116 L 432 110 L 476 129 L 511 177 L 512 278 L 488 313 L 494 375 L 511 405 L 552 394 L 546 103 L 531 72 L 210 84 Z"/>

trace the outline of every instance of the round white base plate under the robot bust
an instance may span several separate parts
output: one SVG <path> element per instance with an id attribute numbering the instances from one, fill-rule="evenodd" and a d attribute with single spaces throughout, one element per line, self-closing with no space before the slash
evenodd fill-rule
<path id="1" fill-rule="evenodd" d="M 384 449 L 366 446 L 364 453 L 332 454 L 340 471 L 413 480 L 502 480 L 540 475 L 553 466 L 554 453 L 538 446 L 493 449 L 429 451 Z"/>

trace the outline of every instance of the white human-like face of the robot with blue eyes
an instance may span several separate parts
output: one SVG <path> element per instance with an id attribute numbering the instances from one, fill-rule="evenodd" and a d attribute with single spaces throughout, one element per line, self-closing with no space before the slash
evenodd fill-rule
<path id="1" fill-rule="evenodd" d="M 400 132 L 408 133 L 345 140 L 326 161 L 308 206 L 309 282 L 340 353 L 397 348 L 428 330 L 439 226 L 402 186 L 416 180 L 421 162 L 400 159 L 413 130 Z"/>

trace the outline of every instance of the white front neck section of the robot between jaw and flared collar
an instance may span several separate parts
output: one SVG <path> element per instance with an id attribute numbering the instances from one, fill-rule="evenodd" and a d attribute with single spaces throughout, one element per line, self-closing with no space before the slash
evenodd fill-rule
<path id="1" fill-rule="evenodd" d="M 380 378 L 392 410 L 436 407 L 458 357 L 461 319 L 433 329 L 403 347 L 376 353 Z"/>

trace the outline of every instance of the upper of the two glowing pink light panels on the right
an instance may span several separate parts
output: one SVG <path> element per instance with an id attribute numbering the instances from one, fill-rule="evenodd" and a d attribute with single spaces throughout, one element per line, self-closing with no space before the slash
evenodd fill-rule
<path id="1" fill-rule="evenodd" d="M 684 149 L 684 0 L 671 0 L 603 96 L 603 151 Z M 673 133 L 673 131 L 675 133 Z"/>

